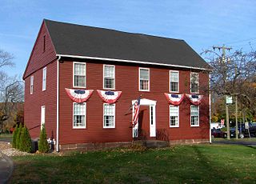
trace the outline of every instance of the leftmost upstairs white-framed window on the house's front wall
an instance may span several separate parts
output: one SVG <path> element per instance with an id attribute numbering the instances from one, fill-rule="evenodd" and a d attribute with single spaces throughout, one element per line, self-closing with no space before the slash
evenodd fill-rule
<path id="1" fill-rule="evenodd" d="M 86 63 L 74 62 L 74 87 L 86 87 Z"/>

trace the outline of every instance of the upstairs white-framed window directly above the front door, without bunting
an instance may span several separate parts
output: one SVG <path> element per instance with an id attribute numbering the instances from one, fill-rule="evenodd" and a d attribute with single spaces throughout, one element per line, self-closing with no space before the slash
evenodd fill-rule
<path id="1" fill-rule="evenodd" d="M 150 91 L 150 69 L 139 68 L 139 90 Z"/>

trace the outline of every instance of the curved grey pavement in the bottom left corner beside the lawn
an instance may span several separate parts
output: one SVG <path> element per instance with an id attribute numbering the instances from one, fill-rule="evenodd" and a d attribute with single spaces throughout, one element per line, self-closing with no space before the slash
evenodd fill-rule
<path id="1" fill-rule="evenodd" d="M 5 184 L 14 170 L 14 163 L 0 150 L 0 183 Z"/>

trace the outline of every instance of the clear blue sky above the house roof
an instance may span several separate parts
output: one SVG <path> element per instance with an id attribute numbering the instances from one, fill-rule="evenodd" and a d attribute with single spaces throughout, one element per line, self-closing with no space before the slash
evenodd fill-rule
<path id="1" fill-rule="evenodd" d="M 198 53 L 211 46 L 256 49 L 254 0 L 1 0 L 0 48 L 14 54 L 10 75 L 22 74 L 42 19 L 184 39 Z M 250 44 L 249 44 L 250 42 Z"/>

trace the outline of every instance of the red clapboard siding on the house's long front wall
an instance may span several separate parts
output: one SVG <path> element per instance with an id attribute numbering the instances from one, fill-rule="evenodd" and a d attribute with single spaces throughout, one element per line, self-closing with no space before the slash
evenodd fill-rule
<path id="1" fill-rule="evenodd" d="M 109 63 L 105 63 L 109 64 Z M 131 101 L 142 94 L 142 98 L 157 101 L 156 128 L 166 129 L 170 140 L 209 138 L 208 94 L 204 94 L 200 105 L 200 126 L 190 127 L 190 102 L 185 99 L 180 105 L 180 126 L 169 127 L 169 105 L 164 93 L 169 92 L 169 69 L 150 68 L 150 92 L 138 91 L 138 66 L 115 66 L 115 90 L 122 90 L 122 96 L 116 103 L 114 129 L 103 129 L 103 102 L 96 90 L 102 90 L 102 63 L 86 62 L 86 89 L 94 90 L 86 102 L 86 129 L 73 129 L 73 102 L 67 96 L 65 88 L 73 88 L 73 62 L 60 63 L 60 144 L 83 142 L 122 142 L 132 140 L 130 128 Z M 180 93 L 190 93 L 190 71 L 180 70 Z M 200 86 L 208 86 L 208 74 L 200 73 Z M 127 110 L 130 114 L 126 114 Z"/>

